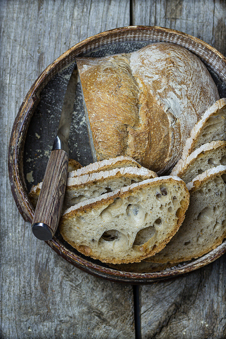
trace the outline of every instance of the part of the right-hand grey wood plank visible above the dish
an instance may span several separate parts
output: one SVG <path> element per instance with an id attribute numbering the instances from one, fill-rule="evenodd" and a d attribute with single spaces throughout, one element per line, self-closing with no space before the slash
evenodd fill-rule
<path id="1" fill-rule="evenodd" d="M 132 0 L 132 23 L 177 29 L 226 54 L 225 0 Z"/>

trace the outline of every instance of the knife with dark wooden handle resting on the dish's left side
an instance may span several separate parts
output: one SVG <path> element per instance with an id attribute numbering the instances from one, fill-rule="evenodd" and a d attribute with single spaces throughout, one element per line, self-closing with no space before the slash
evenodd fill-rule
<path id="1" fill-rule="evenodd" d="M 32 221 L 32 232 L 40 240 L 53 238 L 60 220 L 68 177 L 68 138 L 73 113 L 77 72 L 73 72 L 66 89 L 57 135 L 45 170 L 41 191 Z"/>

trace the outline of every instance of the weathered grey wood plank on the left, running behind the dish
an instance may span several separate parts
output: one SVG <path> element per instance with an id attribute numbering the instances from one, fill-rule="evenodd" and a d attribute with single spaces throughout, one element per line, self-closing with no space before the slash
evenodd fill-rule
<path id="1" fill-rule="evenodd" d="M 8 140 L 30 86 L 87 36 L 129 24 L 114 1 L 1 1 L 0 337 L 134 338 L 131 286 L 84 273 L 37 240 L 20 216 L 7 173 Z"/>

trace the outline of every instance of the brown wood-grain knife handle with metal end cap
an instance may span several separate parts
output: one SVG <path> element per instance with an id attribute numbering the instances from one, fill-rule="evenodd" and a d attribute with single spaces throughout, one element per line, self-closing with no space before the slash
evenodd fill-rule
<path id="1" fill-rule="evenodd" d="M 50 154 L 32 221 L 32 232 L 40 240 L 52 239 L 57 230 L 67 183 L 68 161 L 68 153 L 63 149 L 55 149 Z"/>

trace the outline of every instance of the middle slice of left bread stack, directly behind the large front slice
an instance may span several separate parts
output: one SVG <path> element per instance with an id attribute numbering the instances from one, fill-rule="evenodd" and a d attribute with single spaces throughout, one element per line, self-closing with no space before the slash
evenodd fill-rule
<path id="1" fill-rule="evenodd" d="M 144 167 L 122 167 L 68 178 L 62 213 L 80 201 L 99 197 L 103 193 L 118 190 L 123 186 L 131 185 L 133 182 L 156 177 L 156 173 Z M 37 205 L 41 186 L 42 183 L 33 186 L 29 194 L 34 207 Z"/>

